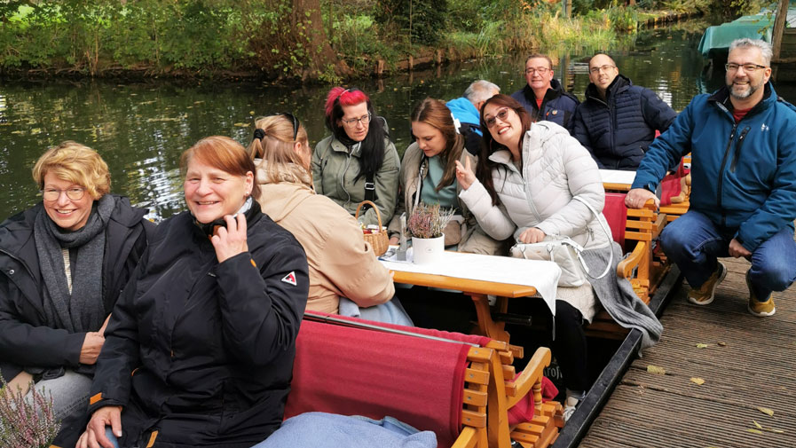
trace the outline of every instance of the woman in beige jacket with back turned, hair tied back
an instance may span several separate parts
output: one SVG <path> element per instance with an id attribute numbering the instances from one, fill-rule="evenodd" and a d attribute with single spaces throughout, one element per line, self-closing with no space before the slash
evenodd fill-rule
<path id="1" fill-rule="evenodd" d="M 362 240 L 346 210 L 312 191 L 307 131 L 293 114 L 259 118 L 248 153 L 257 167 L 263 212 L 293 233 L 307 254 L 307 310 L 412 325 L 390 271 Z"/>

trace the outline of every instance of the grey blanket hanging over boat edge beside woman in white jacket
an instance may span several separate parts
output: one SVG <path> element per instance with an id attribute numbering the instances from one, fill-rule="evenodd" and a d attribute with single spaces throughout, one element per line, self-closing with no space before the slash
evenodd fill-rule
<path id="1" fill-rule="evenodd" d="M 589 278 L 588 281 L 595 288 L 595 295 L 611 318 L 620 326 L 641 330 L 643 350 L 658 342 L 660 334 L 663 333 L 663 326 L 650 307 L 635 295 L 630 282 L 616 275 L 617 265 L 622 260 L 622 248 L 614 241 L 611 241 L 611 248 L 613 248 L 611 271 L 602 279 Z M 609 247 L 583 251 L 583 258 L 592 275 L 599 275 L 605 270 L 610 255 Z"/>

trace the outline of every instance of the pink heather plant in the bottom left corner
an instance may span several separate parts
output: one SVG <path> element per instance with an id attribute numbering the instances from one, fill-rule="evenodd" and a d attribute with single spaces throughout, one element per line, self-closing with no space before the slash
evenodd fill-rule
<path id="1" fill-rule="evenodd" d="M 60 422 L 52 414 L 52 399 L 44 398 L 30 381 L 28 403 L 20 389 L 0 376 L 0 446 L 47 448 L 58 435 Z"/>

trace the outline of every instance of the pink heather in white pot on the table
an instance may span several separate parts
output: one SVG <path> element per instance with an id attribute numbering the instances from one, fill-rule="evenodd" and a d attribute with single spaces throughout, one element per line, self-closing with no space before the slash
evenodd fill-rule
<path id="1" fill-rule="evenodd" d="M 439 204 L 419 202 L 406 223 L 412 236 L 414 263 L 436 263 L 445 251 L 445 225 L 453 218 L 453 209 L 440 208 Z"/>

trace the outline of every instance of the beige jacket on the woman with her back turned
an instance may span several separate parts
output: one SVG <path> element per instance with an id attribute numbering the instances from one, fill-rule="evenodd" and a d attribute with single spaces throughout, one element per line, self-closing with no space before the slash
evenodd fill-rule
<path id="1" fill-rule="evenodd" d="M 310 294 L 307 310 L 337 313 L 340 297 L 360 307 L 390 301 L 390 271 L 376 259 L 353 216 L 307 185 L 266 183 L 257 169 L 263 213 L 293 233 L 307 254 Z"/>

